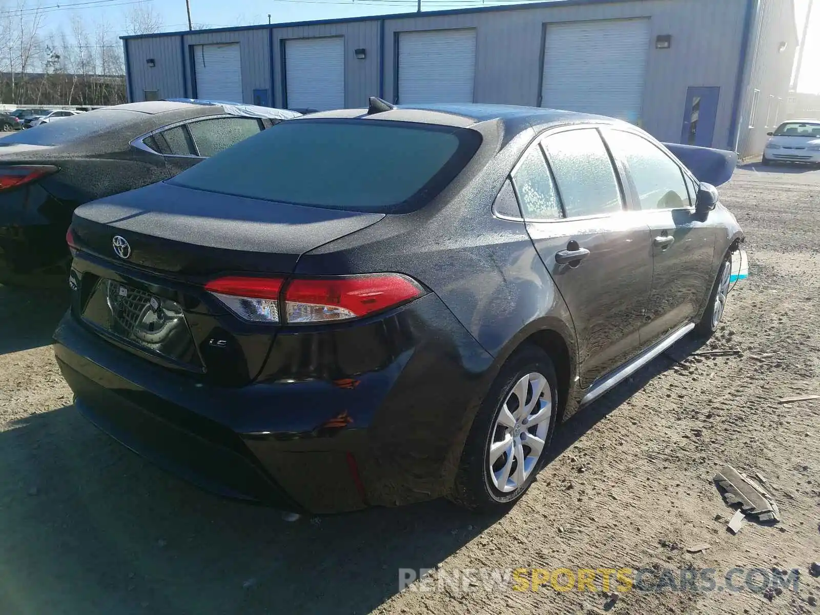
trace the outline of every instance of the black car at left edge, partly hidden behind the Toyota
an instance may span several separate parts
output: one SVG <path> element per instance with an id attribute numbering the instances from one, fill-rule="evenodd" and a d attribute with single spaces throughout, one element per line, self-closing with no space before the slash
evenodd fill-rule
<path id="1" fill-rule="evenodd" d="M 64 284 L 75 207 L 166 180 L 294 116 L 158 101 L 97 109 L 0 139 L 0 283 Z"/>

